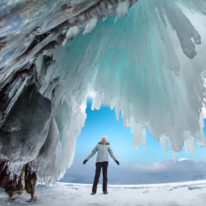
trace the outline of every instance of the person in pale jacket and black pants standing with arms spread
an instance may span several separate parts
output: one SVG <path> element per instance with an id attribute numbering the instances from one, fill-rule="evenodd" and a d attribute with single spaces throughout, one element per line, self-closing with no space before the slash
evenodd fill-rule
<path id="1" fill-rule="evenodd" d="M 103 185 L 102 185 L 102 190 L 104 194 L 108 194 L 107 192 L 107 168 L 108 168 L 108 153 L 112 157 L 112 159 L 119 165 L 119 161 L 115 158 L 112 149 L 110 147 L 109 142 L 107 142 L 107 137 L 103 136 L 101 142 L 99 142 L 90 155 L 83 161 L 83 164 L 86 164 L 86 162 L 97 153 L 97 158 L 96 158 L 96 170 L 95 170 L 95 177 L 94 177 L 94 182 L 92 186 L 92 193 L 91 195 L 96 194 L 97 192 L 97 185 L 99 182 L 99 177 L 101 174 L 101 170 L 103 172 Z"/>

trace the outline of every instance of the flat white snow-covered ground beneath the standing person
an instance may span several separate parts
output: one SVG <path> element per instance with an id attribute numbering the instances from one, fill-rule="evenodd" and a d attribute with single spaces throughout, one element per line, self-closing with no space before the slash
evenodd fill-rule
<path id="1" fill-rule="evenodd" d="M 52 187 L 38 186 L 37 201 L 28 202 L 24 193 L 9 199 L 0 190 L 0 206 L 205 206 L 206 180 L 184 183 L 152 185 L 110 185 L 108 195 L 98 187 L 96 195 L 90 195 L 91 185 L 57 183 Z"/>

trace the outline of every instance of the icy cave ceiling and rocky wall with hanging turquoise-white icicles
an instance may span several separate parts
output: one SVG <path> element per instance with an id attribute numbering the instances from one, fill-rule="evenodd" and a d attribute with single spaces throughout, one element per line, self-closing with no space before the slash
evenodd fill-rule
<path id="1" fill-rule="evenodd" d="M 205 15 L 205 0 L 1 0 L 0 159 L 56 180 L 89 95 L 135 147 L 145 127 L 174 152 L 204 146 Z"/>

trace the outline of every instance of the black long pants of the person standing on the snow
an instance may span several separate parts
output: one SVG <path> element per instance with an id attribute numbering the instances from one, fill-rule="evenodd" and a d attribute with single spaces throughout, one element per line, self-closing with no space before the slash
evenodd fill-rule
<path id="1" fill-rule="evenodd" d="M 102 172 L 103 172 L 102 190 L 103 190 L 103 192 L 107 192 L 107 167 L 108 167 L 108 162 L 96 162 L 96 171 L 95 171 L 92 192 L 96 193 L 96 191 L 97 191 L 97 185 L 98 185 L 99 177 L 101 174 L 101 168 L 102 168 Z"/>

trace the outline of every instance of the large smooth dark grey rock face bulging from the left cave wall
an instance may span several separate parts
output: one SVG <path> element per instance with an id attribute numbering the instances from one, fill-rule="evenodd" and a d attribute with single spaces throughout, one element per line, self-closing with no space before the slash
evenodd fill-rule
<path id="1" fill-rule="evenodd" d="M 24 88 L 0 128 L 0 158 L 30 162 L 44 144 L 50 122 L 51 102 L 32 84 Z"/>

